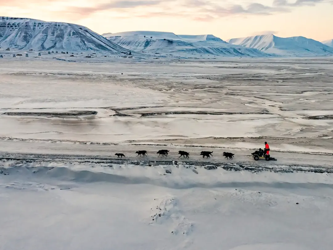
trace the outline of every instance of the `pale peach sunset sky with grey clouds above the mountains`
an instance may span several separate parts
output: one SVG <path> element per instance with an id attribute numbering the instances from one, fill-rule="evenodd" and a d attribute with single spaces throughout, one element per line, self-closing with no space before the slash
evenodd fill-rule
<path id="1" fill-rule="evenodd" d="M 0 16 L 99 33 L 166 31 L 223 40 L 260 34 L 333 39 L 333 0 L 0 0 Z"/>

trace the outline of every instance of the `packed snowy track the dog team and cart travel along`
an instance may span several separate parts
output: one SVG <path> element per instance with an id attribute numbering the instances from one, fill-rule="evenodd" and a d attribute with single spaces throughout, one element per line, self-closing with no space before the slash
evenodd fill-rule
<path id="1" fill-rule="evenodd" d="M 249 171 L 333 171 L 333 155 L 274 152 L 271 155 L 277 161 L 255 161 L 251 154 L 253 151 L 244 149 L 188 147 L 174 145 L 131 145 L 131 144 L 82 144 L 82 143 L 49 143 L 29 141 L 0 140 L 3 160 L 29 161 L 29 162 L 81 162 L 93 164 L 131 164 L 145 166 L 200 166 L 206 169 L 217 167 L 226 170 Z M 160 149 L 168 149 L 167 156 L 159 156 L 156 152 Z M 147 156 L 137 156 L 137 150 L 147 150 Z M 189 152 L 189 158 L 179 157 L 178 151 Z M 202 158 L 201 151 L 213 151 L 210 158 Z M 223 152 L 232 152 L 235 158 L 225 159 Z M 118 158 L 115 153 L 124 153 L 125 157 Z"/>

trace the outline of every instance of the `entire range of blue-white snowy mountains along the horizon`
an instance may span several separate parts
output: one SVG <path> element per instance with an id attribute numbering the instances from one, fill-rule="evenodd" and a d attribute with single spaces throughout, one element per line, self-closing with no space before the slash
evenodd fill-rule
<path id="1" fill-rule="evenodd" d="M 99 35 L 77 24 L 0 17 L 0 48 L 101 54 L 133 52 L 158 58 L 306 57 L 333 56 L 333 39 L 321 43 L 305 37 L 260 35 L 223 41 L 214 35 L 176 35 L 159 31 Z"/>

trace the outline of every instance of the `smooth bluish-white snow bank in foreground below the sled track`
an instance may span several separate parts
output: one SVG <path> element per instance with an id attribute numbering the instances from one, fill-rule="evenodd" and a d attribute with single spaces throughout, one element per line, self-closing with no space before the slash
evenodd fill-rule
<path id="1" fill-rule="evenodd" d="M 0 161 L 0 249 L 330 250 L 333 178 Z"/>

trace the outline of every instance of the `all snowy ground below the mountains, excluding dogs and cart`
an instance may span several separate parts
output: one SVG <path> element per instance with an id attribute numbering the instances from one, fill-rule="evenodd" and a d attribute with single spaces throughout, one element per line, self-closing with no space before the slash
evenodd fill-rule
<path id="1" fill-rule="evenodd" d="M 1 250 L 331 249 L 332 58 L 51 56 L 0 58 Z"/>

